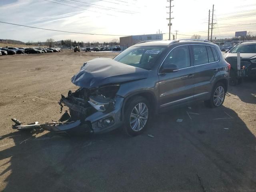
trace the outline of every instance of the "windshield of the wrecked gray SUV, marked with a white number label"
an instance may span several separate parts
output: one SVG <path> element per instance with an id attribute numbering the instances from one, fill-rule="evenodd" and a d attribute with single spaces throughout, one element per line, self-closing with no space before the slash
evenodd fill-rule
<path id="1" fill-rule="evenodd" d="M 164 47 L 157 46 L 130 47 L 116 56 L 114 60 L 127 65 L 151 70 L 164 49 Z"/>

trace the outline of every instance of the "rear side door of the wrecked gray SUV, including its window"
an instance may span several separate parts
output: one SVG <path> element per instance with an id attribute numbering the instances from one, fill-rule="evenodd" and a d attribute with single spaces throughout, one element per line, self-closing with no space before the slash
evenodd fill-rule
<path id="1" fill-rule="evenodd" d="M 212 91 L 212 82 L 218 73 L 218 54 L 213 46 L 191 45 L 195 66 L 195 99 L 208 99 Z"/>

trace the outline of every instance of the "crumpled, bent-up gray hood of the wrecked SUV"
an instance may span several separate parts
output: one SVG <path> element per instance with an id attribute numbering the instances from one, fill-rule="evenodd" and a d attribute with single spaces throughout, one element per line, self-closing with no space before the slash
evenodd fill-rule
<path id="1" fill-rule="evenodd" d="M 96 58 L 84 63 L 71 78 L 76 86 L 95 88 L 105 84 L 122 83 L 148 77 L 148 70 L 126 65 L 110 58 Z"/>

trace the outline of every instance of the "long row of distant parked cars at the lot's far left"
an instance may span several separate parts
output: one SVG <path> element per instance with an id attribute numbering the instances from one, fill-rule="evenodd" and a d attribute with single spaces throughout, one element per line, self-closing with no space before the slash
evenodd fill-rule
<path id="1" fill-rule="evenodd" d="M 0 48 L 0 55 L 14 55 L 14 54 L 33 54 L 33 53 L 52 53 L 60 52 L 61 48 L 22 48 L 22 47 L 5 47 Z"/>

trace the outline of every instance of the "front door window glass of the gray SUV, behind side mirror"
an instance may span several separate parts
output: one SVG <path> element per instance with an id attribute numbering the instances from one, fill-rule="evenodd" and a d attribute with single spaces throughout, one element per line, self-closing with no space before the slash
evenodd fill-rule
<path id="1" fill-rule="evenodd" d="M 166 64 L 175 64 L 179 69 L 190 67 L 190 55 L 188 45 L 174 48 L 164 60 Z"/>

